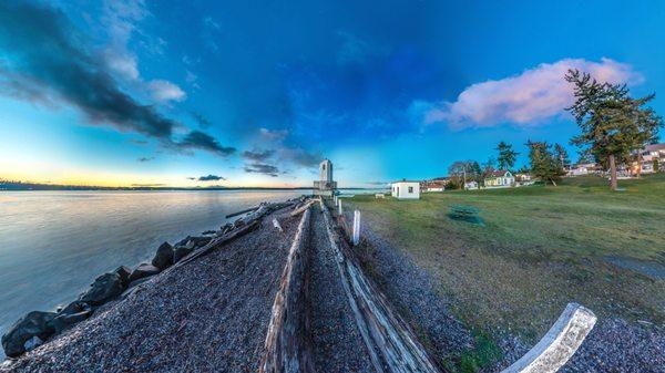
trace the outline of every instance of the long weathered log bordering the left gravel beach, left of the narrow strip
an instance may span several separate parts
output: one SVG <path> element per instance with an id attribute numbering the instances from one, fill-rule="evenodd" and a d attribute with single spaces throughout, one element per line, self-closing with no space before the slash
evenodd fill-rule
<path id="1" fill-rule="evenodd" d="M 266 352 L 258 370 L 260 373 L 315 371 L 307 312 L 309 216 L 310 209 L 306 209 L 282 273 L 266 335 Z"/>

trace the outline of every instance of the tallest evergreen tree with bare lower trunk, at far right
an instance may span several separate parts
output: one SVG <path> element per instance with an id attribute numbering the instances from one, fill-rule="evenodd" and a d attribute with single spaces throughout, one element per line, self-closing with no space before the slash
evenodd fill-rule
<path id="1" fill-rule="evenodd" d="M 625 84 L 600 83 L 590 74 L 569 70 L 565 80 L 574 85 L 575 102 L 566 107 L 582 133 L 571 143 L 586 148 L 610 167 L 612 190 L 616 190 L 616 165 L 657 137 L 663 121 L 651 107 L 655 95 L 632 99 Z"/>

